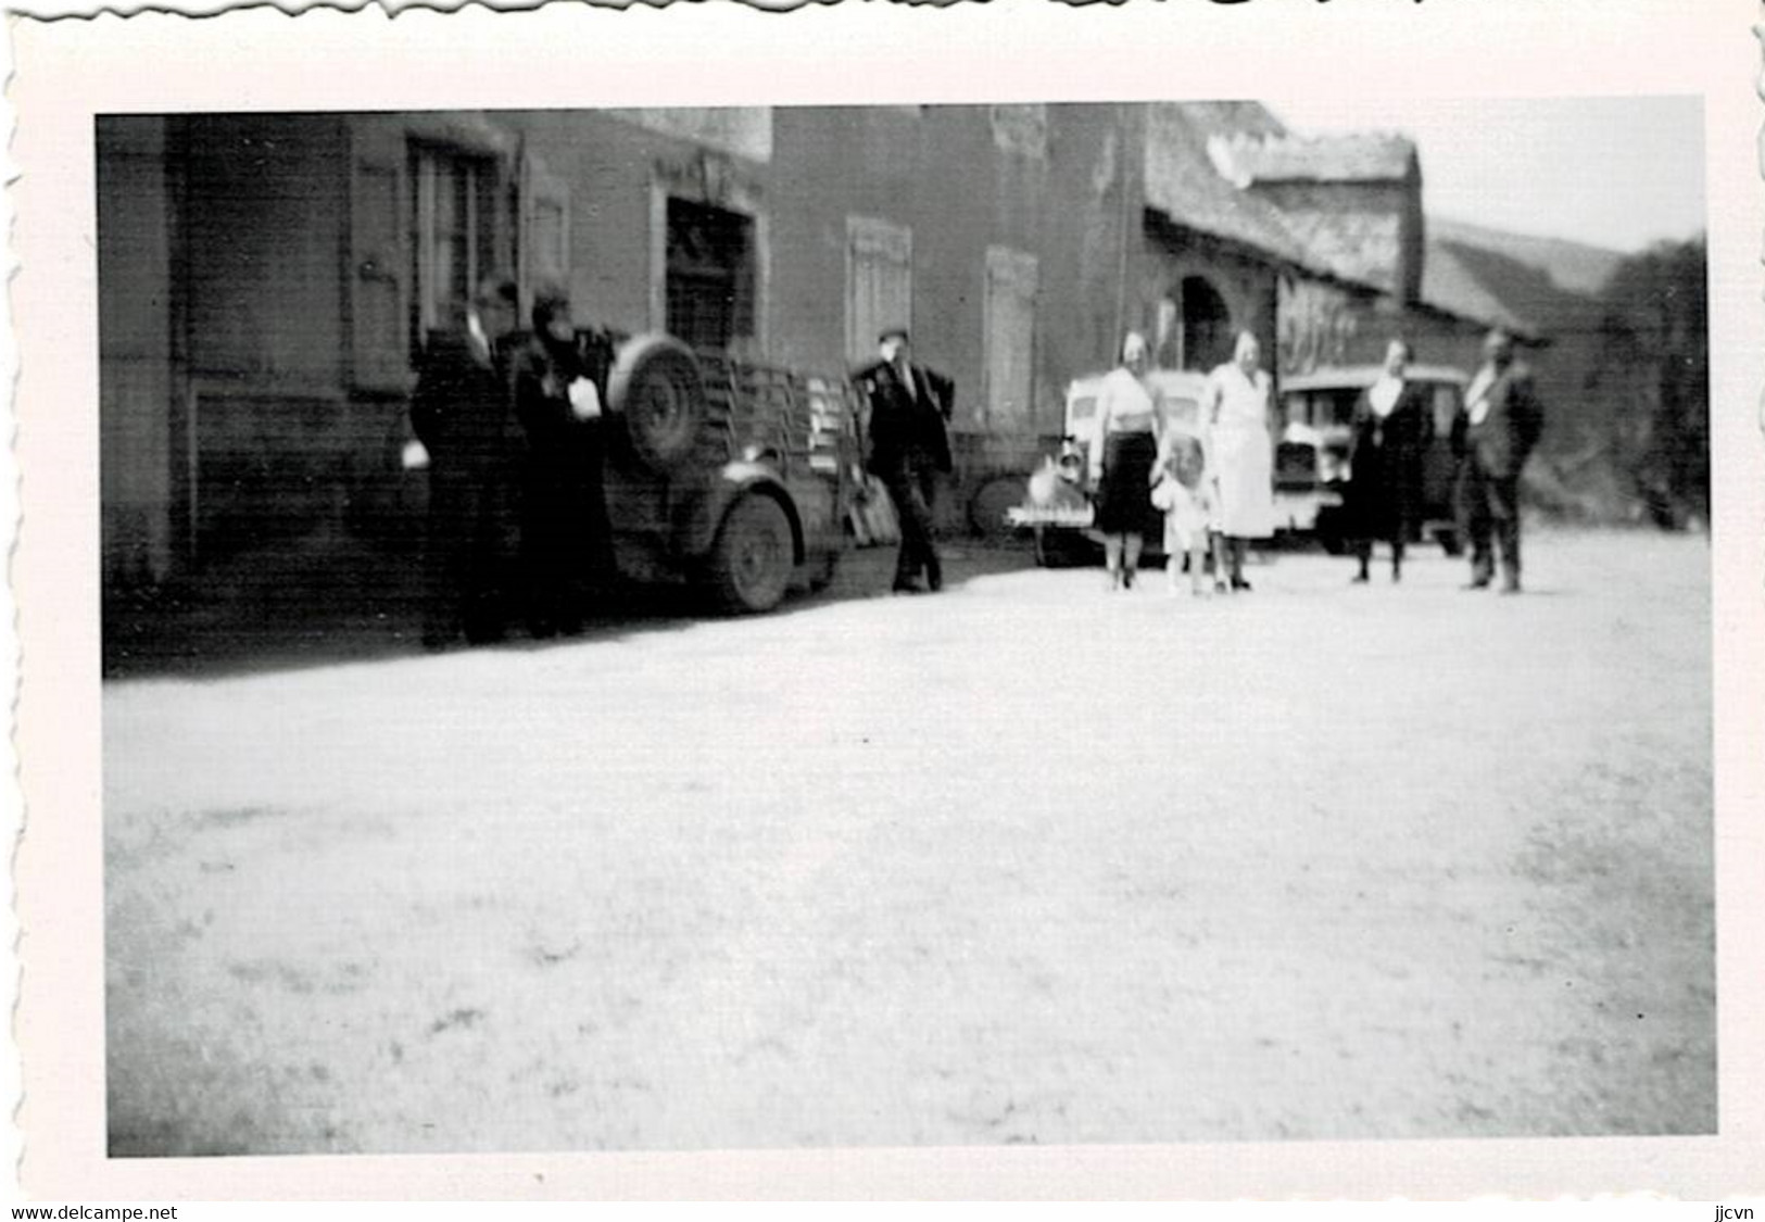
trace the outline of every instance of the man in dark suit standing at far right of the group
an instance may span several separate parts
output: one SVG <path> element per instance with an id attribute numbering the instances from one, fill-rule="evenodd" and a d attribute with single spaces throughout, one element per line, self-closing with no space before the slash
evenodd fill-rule
<path id="1" fill-rule="evenodd" d="M 1502 593 L 1520 593 L 1520 471 L 1544 431 L 1532 371 L 1502 330 L 1483 341 L 1483 367 L 1453 422 L 1460 528 L 1470 539 L 1470 585 L 1495 577 L 1491 537 L 1502 553 Z"/>

